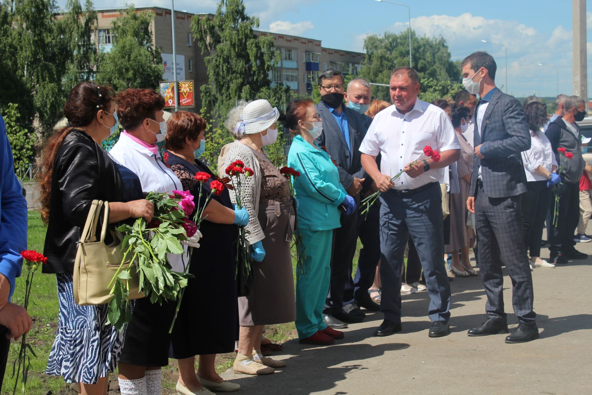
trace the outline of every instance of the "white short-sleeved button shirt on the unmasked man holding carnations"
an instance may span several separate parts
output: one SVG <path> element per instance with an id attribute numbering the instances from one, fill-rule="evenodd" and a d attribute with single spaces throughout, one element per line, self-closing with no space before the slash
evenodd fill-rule
<path id="1" fill-rule="evenodd" d="M 360 151 L 367 155 L 382 154 L 380 171 L 395 176 L 407 163 L 423 154 L 429 145 L 440 152 L 460 149 L 456 132 L 442 108 L 417 99 L 413 109 L 401 114 L 395 105 L 379 112 L 362 140 Z M 413 190 L 430 182 L 440 182 L 444 169 L 430 169 L 416 178 L 406 173 L 394 181 L 397 190 Z"/>

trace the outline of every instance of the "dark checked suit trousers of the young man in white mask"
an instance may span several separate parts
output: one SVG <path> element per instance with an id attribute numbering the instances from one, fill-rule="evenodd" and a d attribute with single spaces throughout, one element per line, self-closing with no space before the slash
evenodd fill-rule
<path id="1" fill-rule="evenodd" d="M 487 294 L 485 311 L 491 319 L 507 322 L 501 271 L 503 259 L 512 281 L 514 313 L 520 322 L 534 325 L 532 275 L 522 239 L 522 197 L 490 198 L 482 188 L 477 189 L 475 225 L 479 272 Z"/>

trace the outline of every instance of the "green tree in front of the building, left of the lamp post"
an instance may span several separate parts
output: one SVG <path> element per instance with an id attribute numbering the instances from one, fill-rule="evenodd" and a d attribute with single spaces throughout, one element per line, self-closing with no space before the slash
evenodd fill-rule
<path id="1" fill-rule="evenodd" d="M 113 22 L 111 52 L 99 54 L 98 84 L 110 85 L 115 91 L 157 88 L 162 79 L 162 57 L 160 49 L 152 47 L 153 19 L 152 13 L 136 12 L 133 5 L 121 11 L 121 17 Z"/>

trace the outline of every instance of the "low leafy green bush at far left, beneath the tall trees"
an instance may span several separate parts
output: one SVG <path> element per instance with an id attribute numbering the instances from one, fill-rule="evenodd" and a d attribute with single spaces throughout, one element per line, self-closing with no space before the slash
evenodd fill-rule
<path id="1" fill-rule="evenodd" d="M 29 163 L 34 162 L 35 140 L 31 139 L 31 133 L 21 126 L 21 115 L 18 113 L 17 104 L 9 103 L 3 117 L 8 142 L 12 148 L 12 156 L 14 156 L 14 171 L 21 175 L 21 169 L 25 169 Z"/>

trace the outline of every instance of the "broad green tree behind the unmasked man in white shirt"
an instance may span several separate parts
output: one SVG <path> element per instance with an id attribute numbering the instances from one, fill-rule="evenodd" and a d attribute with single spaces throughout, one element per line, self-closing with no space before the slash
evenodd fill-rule
<path id="1" fill-rule="evenodd" d="M 373 34 L 364 40 L 366 60 L 363 62 L 359 76 L 369 82 L 388 84 L 391 70 L 398 66 L 409 65 L 408 30 L 401 33 L 385 32 L 382 36 Z M 417 37 L 411 31 L 411 50 L 413 52 L 413 68 L 420 78 L 421 91 L 427 92 L 430 84 L 424 84 L 428 78 L 436 82 L 461 79 L 458 65 L 451 60 L 446 40 L 442 37 Z M 424 86 L 425 85 L 425 86 Z M 372 96 L 390 101 L 387 86 L 372 86 Z"/>

